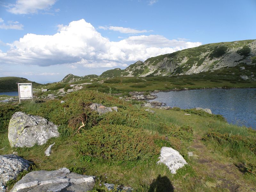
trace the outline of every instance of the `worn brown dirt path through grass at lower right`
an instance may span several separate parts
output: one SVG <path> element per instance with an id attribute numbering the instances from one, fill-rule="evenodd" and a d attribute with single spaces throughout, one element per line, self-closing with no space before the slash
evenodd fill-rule
<path id="1" fill-rule="evenodd" d="M 189 148 L 193 151 L 194 160 L 197 162 L 199 172 L 207 178 L 205 185 L 216 189 L 228 189 L 231 192 L 235 191 L 256 191 L 255 186 L 248 185 L 245 182 L 243 173 L 230 163 L 223 163 L 218 157 L 215 158 L 213 150 L 209 150 L 201 141 L 201 137 L 196 136 L 193 144 Z M 217 156 L 217 155 L 216 155 Z M 204 180 L 207 180 L 204 178 Z"/>

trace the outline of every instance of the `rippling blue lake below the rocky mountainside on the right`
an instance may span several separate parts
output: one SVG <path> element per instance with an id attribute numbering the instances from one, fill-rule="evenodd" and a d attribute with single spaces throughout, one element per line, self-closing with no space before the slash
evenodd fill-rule
<path id="1" fill-rule="evenodd" d="M 228 123 L 256 129 L 256 88 L 250 89 L 197 89 L 156 93 L 154 101 L 170 107 L 210 108 Z"/>

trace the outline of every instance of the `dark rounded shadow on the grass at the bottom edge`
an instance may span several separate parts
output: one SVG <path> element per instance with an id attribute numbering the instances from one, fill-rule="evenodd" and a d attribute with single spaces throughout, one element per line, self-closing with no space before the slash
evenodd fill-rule
<path id="1" fill-rule="evenodd" d="M 150 185 L 148 192 L 173 192 L 174 188 L 171 181 L 166 177 L 159 174 Z"/>

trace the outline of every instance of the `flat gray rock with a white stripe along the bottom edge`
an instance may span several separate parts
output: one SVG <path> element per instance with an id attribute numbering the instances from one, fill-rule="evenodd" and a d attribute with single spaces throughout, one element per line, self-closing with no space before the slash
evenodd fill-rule
<path id="1" fill-rule="evenodd" d="M 11 192 L 38 191 L 89 191 L 95 185 L 95 177 L 70 172 L 67 168 L 55 171 L 33 171 L 25 175 Z"/>

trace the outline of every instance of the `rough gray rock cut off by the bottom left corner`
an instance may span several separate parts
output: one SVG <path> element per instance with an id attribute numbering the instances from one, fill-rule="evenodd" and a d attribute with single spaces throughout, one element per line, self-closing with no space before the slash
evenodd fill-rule
<path id="1" fill-rule="evenodd" d="M 5 183 L 16 179 L 20 172 L 27 171 L 31 163 L 14 154 L 0 155 L 0 191 L 5 191 Z"/>

